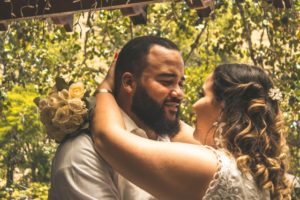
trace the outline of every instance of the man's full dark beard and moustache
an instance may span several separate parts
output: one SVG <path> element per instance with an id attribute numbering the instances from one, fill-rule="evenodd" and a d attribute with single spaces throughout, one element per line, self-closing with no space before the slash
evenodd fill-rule
<path id="1" fill-rule="evenodd" d="M 166 99 L 166 102 L 177 102 L 178 99 Z M 164 104 L 163 103 L 163 104 Z M 163 104 L 160 106 L 151 98 L 142 86 L 137 86 L 132 100 L 132 112 L 157 135 L 175 135 L 179 131 L 179 110 L 176 113 L 175 120 L 168 120 Z"/>

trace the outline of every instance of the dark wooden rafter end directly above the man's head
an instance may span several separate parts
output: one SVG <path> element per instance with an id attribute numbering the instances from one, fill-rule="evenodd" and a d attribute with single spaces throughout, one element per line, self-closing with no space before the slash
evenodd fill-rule
<path id="1" fill-rule="evenodd" d="M 122 8 L 123 16 L 130 17 L 134 25 L 147 24 L 147 5 Z"/>

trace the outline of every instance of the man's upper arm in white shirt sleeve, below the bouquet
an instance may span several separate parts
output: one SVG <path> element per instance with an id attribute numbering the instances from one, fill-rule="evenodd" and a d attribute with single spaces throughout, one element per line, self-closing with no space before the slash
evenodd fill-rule
<path id="1" fill-rule="evenodd" d="M 82 134 L 62 144 L 53 160 L 49 200 L 120 199 L 116 174 Z"/>

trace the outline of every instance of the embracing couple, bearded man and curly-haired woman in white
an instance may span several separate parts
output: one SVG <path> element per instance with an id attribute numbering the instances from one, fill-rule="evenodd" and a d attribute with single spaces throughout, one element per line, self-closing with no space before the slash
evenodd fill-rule
<path id="1" fill-rule="evenodd" d="M 266 72 L 217 66 L 193 105 L 195 130 L 179 119 L 183 84 L 173 42 L 129 41 L 97 89 L 92 133 L 59 146 L 49 199 L 289 199 L 283 119 Z"/>

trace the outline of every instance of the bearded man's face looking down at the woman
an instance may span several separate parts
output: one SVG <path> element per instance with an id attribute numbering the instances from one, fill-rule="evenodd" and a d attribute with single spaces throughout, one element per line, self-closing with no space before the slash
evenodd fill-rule
<path id="1" fill-rule="evenodd" d="M 176 50 L 154 45 L 147 63 L 137 81 L 132 112 L 157 134 L 175 134 L 179 130 L 179 106 L 184 95 L 182 57 Z"/>

